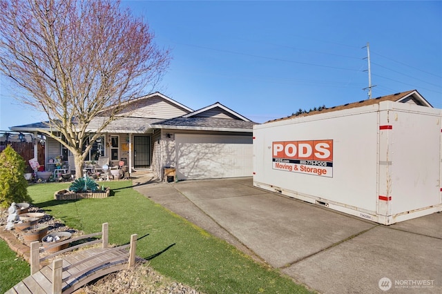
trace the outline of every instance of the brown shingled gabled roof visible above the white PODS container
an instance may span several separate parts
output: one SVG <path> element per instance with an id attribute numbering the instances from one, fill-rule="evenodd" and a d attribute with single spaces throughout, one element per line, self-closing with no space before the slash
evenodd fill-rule
<path id="1" fill-rule="evenodd" d="M 349 108 L 355 108 L 360 106 L 367 106 L 372 104 L 378 104 L 381 101 L 394 101 L 394 102 L 401 102 L 401 103 L 407 103 L 412 101 L 414 104 L 420 105 L 420 106 L 427 106 L 427 107 L 433 107 L 431 104 L 425 100 L 421 94 L 417 90 L 410 90 L 406 92 L 398 92 L 396 94 L 377 97 L 373 99 L 367 99 L 362 100 L 354 103 L 347 103 L 340 106 L 333 106 L 331 108 L 325 108 L 323 110 L 316 110 L 316 111 L 310 111 L 308 113 L 302 113 L 300 115 L 291 115 L 289 117 L 284 117 L 281 119 L 274 119 L 272 121 L 281 121 L 285 119 L 292 119 L 294 117 L 306 117 L 308 115 L 317 115 L 318 113 L 325 113 L 325 112 L 331 112 L 336 110 L 343 110 L 343 109 L 349 109 Z M 270 121 L 267 121 L 270 122 Z"/>

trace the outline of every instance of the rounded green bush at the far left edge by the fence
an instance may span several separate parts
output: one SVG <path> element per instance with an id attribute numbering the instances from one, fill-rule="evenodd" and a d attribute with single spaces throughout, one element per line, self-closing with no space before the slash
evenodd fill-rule
<path id="1" fill-rule="evenodd" d="M 23 173 L 25 161 L 10 145 L 0 153 L 0 206 L 30 202 L 28 182 Z"/>

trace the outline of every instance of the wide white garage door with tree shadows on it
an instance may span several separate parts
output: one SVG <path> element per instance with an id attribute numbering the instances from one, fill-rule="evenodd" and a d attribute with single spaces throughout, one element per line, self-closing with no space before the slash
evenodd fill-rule
<path id="1" fill-rule="evenodd" d="M 178 179 L 252 175 L 251 136 L 175 134 Z"/>

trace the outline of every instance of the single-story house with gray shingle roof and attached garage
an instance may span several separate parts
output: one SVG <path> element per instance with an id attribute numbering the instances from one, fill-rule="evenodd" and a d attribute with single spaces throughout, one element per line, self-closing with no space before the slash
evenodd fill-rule
<path id="1" fill-rule="evenodd" d="M 95 141 L 86 161 L 109 157 L 114 166 L 124 161 L 131 172 L 151 170 L 160 179 L 164 178 L 164 168 L 175 168 L 180 180 L 252 175 L 256 123 L 219 102 L 192 110 L 155 92 L 131 101 L 120 115 Z M 95 117 L 88 130 L 93 133 L 103 119 Z M 41 122 L 10 128 L 35 136 L 42 129 L 49 130 Z M 50 159 L 58 155 L 67 161 L 69 151 L 48 138 L 46 170 L 55 168 Z"/>

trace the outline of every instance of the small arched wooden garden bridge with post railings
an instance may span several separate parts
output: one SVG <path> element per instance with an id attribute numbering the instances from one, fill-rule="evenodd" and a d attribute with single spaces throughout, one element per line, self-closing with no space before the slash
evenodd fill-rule
<path id="1" fill-rule="evenodd" d="M 40 253 L 81 239 L 99 237 L 90 242 L 68 247 L 50 255 Z M 67 239 L 46 248 L 39 248 L 40 242 L 30 244 L 30 276 L 10 288 L 6 293 L 73 293 L 81 286 L 99 277 L 135 265 L 137 234 L 131 235 L 130 244 L 108 247 L 108 224 L 102 225 L 102 232 Z M 48 263 L 48 259 L 75 249 L 102 243 L 101 247 L 87 248 L 69 253 Z M 46 265 L 45 265 L 46 264 Z"/>

